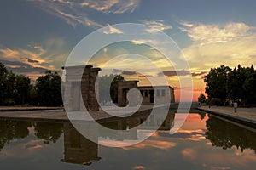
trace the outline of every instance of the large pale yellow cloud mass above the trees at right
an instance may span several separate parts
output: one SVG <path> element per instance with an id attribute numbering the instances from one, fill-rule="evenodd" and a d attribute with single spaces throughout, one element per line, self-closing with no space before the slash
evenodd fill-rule
<path id="1" fill-rule="evenodd" d="M 235 67 L 256 64 L 256 32 L 241 22 L 222 25 L 181 22 L 192 44 L 183 48 L 190 67 L 208 69 L 219 65 Z"/>

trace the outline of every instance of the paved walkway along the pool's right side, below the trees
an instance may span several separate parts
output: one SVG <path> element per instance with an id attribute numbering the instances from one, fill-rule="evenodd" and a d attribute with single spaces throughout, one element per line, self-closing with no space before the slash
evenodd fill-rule
<path id="1" fill-rule="evenodd" d="M 256 108 L 237 108 L 236 113 L 232 107 L 223 106 L 201 106 L 201 111 L 206 111 L 218 116 L 224 116 L 225 118 L 232 119 L 238 122 L 247 122 L 256 126 Z"/>

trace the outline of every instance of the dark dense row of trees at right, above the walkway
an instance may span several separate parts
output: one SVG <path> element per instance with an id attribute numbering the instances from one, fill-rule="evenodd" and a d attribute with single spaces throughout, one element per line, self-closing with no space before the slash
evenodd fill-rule
<path id="1" fill-rule="evenodd" d="M 256 71 L 253 65 L 238 65 L 233 70 L 225 65 L 212 68 L 204 82 L 207 99 L 201 94 L 200 101 L 205 99 L 210 105 L 228 105 L 234 101 L 240 105 L 256 105 Z"/>

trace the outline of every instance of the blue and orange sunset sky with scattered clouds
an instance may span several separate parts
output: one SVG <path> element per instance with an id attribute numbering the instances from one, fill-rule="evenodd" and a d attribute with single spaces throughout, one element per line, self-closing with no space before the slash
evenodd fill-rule
<path id="1" fill-rule="evenodd" d="M 253 0 L 1 0 L 0 62 L 34 79 L 47 70 L 61 71 L 72 49 L 91 32 L 109 26 L 110 33 L 120 33 L 111 25 L 139 23 L 177 42 L 190 67 L 179 72 L 186 77 L 190 71 L 196 100 L 210 68 L 256 64 L 255 7 Z M 178 95 L 177 74 L 143 42 L 120 43 L 96 55 L 108 59 L 122 50 L 154 59 Z M 137 77 L 128 68 L 117 67 L 112 73 Z"/>

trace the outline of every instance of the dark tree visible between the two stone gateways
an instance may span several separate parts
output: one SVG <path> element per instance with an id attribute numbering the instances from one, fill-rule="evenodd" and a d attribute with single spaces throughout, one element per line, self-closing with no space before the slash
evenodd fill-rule
<path id="1" fill-rule="evenodd" d="M 99 78 L 99 100 L 101 103 L 118 102 L 118 81 L 124 80 L 120 75 L 105 75 Z M 110 87 L 110 89 L 109 89 Z"/>

